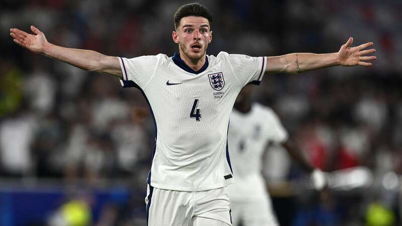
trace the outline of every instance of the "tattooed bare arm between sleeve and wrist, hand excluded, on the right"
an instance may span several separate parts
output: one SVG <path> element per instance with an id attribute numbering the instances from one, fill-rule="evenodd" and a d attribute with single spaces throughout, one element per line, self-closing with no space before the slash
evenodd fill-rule
<path id="1" fill-rule="evenodd" d="M 290 53 L 268 57 L 267 72 L 301 73 L 339 65 L 338 53 Z"/>

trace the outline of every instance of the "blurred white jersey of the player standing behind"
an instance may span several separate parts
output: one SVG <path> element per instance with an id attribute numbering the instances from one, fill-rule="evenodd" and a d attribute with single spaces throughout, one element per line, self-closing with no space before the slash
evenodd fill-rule
<path id="1" fill-rule="evenodd" d="M 267 194 L 261 174 L 263 154 L 269 142 L 283 143 L 287 137 L 271 108 L 253 103 L 245 114 L 233 109 L 228 145 L 236 183 L 228 186 L 231 200 L 256 199 Z"/>

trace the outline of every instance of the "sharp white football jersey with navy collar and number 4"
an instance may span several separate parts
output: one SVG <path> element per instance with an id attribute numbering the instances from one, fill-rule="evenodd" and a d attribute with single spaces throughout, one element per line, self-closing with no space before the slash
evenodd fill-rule
<path id="1" fill-rule="evenodd" d="M 231 184 L 230 112 L 240 89 L 261 81 L 266 57 L 220 52 L 207 56 L 196 72 L 177 54 L 119 60 L 123 86 L 143 92 L 155 121 L 156 145 L 147 182 L 177 191 Z"/>

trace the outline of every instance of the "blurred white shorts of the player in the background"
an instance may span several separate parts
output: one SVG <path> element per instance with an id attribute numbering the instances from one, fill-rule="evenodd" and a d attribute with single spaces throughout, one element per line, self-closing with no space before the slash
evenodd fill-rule
<path id="1" fill-rule="evenodd" d="M 267 199 L 231 201 L 233 226 L 278 226 L 275 213 Z"/>

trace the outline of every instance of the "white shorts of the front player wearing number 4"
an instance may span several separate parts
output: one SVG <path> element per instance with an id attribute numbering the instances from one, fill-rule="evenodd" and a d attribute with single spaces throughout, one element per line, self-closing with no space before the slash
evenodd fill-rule
<path id="1" fill-rule="evenodd" d="M 232 225 L 226 187 L 208 191 L 172 191 L 148 185 L 148 226 Z"/>

